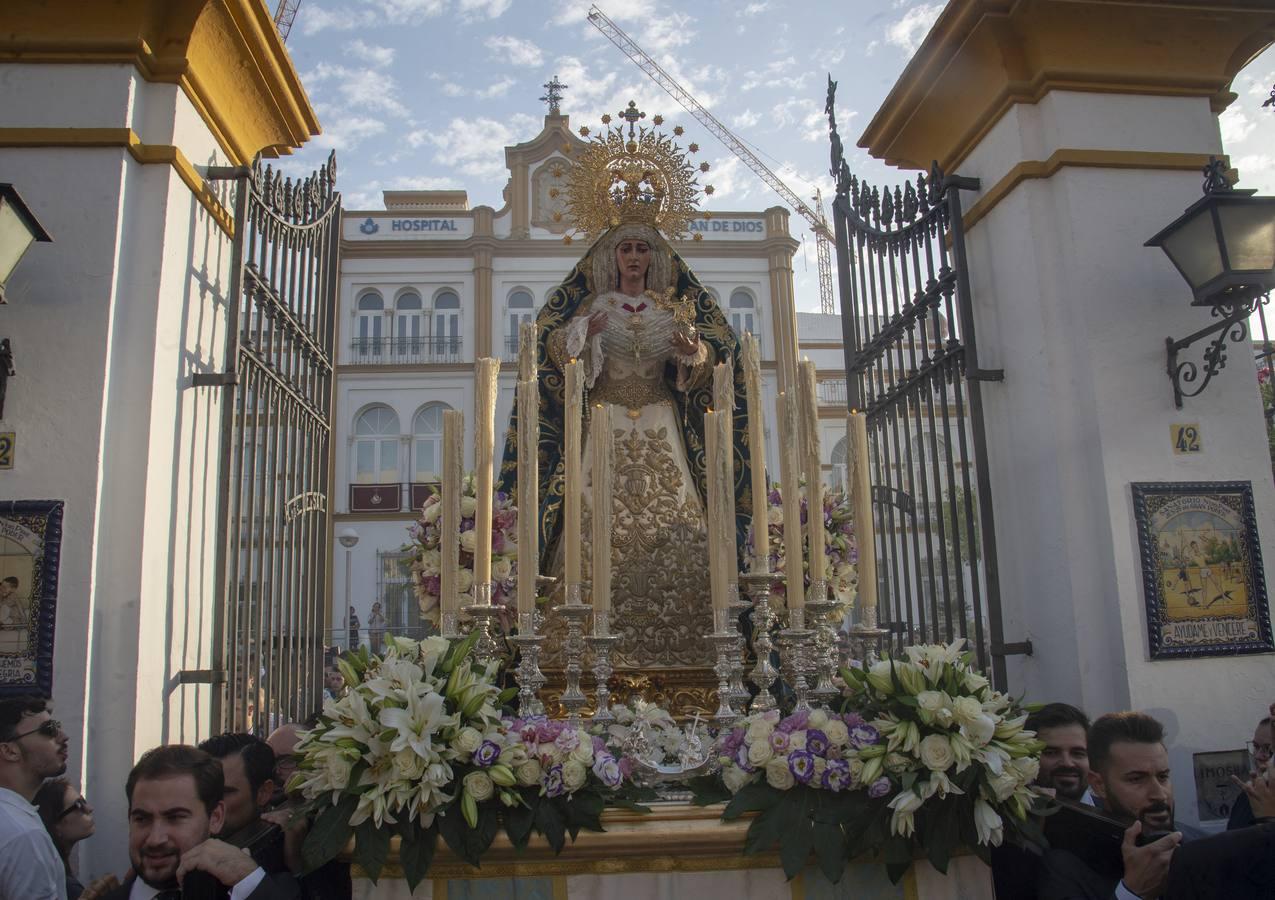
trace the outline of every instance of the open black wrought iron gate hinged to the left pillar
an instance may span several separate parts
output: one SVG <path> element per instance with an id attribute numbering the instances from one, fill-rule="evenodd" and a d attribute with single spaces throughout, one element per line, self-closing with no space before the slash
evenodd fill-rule
<path id="1" fill-rule="evenodd" d="M 269 732 L 320 705 L 340 194 L 337 162 L 238 178 L 222 388 L 213 722 Z M 200 384 L 196 379 L 196 384 Z"/>

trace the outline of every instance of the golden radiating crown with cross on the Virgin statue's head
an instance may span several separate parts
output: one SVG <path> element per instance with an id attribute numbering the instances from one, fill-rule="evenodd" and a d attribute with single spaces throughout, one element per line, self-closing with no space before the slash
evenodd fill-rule
<path id="1" fill-rule="evenodd" d="M 566 196 L 575 231 L 597 237 L 620 223 L 639 223 L 666 237 L 682 237 L 699 215 L 696 170 L 708 172 L 709 164 L 692 166 L 671 136 L 657 131 L 663 117 L 654 116 L 650 126 L 639 125 L 646 113 L 634 101 L 617 115 L 622 120 L 617 127 L 611 127 L 611 116 L 603 116 L 604 130 L 590 135 L 586 126 L 580 129 L 580 136 L 589 138 L 583 150 L 572 154 L 570 147 L 565 148 L 575 161 Z M 676 126 L 673 134 L 681 136 L 682 126 Z M 686 152 L 699 149 L 690 144 Z M 713 185 L 706 185 L 704 192 L 711 194 Z M 564 240 L 570 243 L 571 235 Z M 700 235 L 695 240 L 701 240 Z"/>

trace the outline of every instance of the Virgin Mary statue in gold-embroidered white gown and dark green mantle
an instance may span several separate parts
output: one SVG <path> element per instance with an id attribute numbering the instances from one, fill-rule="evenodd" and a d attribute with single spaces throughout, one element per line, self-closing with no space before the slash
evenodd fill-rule
<path id="1" fill-rule="evenodd" d="M 601 143 L 595 139 L 589 147 Z M 641 143 L 636 143 L 640 150 Z M 632 134 L 618 144 L 621 156 L 625 144 L 634 147 Z M 681 157 L 677 161 L 690 170 Z M 597 185 L 599 178 L 588 167 L 588 158 L 578 161 L 576 170 L 589 177 L 579 177 L 580 172 L 575 177 Z M 585 572 L 593 552 L 588 447 L 583 451 L 583 533 L 562 534 L 564 366 L 579 359 L 585 408 L 590 416 L 608 417 L 615 437 L 611 621 L 612 634 L 621 639 L 615 651 L 620 674 L 625 669 L 710 664 L 704 413 L 711 407 L 713 370 L 718 363 L 729 367 L 734 385 L 737 551 L 751 521 L 738 339 L 713 294 L 657 227 L 676 222 L 674 215 L 658 214 L 672 191 L 658 190 L 659 178 L 668 176 L 650 171 L 649 154 L 644 167 L 646 171 L 639 170 L 646 176 L 644 184 L 626 181 L 622 170 L 611 180 L 602 178 L 603 186 L 609 185 L 609 191 L 602 192 L 606 228 L 598 228 L 602 235 L 536 319 L 541 571 L 561 574 L 565 541 L 583 544 Z M 648 190 L 649 182 L 655 182 L 657 190 Z M 574 182 L 572 212 L 581 227 L 586 217 L 578 212 L 583 205 L 579 196 Z M 685 222 L 683 215 L 681 224 Z M 674 228 L 666 231 L 676 233 Z M 500 490 L 513 495 L 518 481 L 516 423 L 510 425 Z"/>

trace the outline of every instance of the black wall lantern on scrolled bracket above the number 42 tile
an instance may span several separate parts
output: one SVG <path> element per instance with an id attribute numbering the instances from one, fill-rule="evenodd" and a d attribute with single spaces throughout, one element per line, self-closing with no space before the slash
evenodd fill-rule
<path id="1" fill-rule="evenodd" d="M 1248 316 L 1275 288 L 1275 198 L 1235 190 L 1225 164 L 1210 157 L 1204 168 L 1204 196 L 1144 246 L 1160 247 L 1191 286 L 1192 306 L 1205 306 L 1219 321 L 1174 340 L 1165 338 L 1173 403 L 1196 396 L 1227 367 L 1227 343 L 1248 337 Z M 1204 352 L 1204 371 L 1178 353 L 1215 335 Z M 1184 385 L 1192 385 L 1193 389 Z"/>

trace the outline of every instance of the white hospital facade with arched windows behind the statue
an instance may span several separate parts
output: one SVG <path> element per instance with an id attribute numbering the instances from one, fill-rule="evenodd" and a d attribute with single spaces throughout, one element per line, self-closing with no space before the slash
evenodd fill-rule
<path id="1" fill-rule="evenodd" d="M 385 210 L 346 212 L 334 440 L 335 644 L 346 644 L 349 606 L 363 641 L 374 602 L 382 603 L 391 628 L 416 623 L 402 588 L 405 575 L 395 565 L 414 519 L 411 486 L 436 479 L 431 465 L 440 461 L 435 428 L 441 426 L 433 410 L 441 408 L 464 410 L 465 467 L 473 465 L 478 357 L 505 362 L 496 407 L 497 440 L 504 439 L 514 405 L 518 323 L 536 315 L 588 249 L 564 242 L 561 223 L 552 221 L 560 201 L 542 184 L 565 164 L 565 142 L 579 144 L 567 117 L 551 115 L 539 135 L 507 148 L 510 184 L 500 210 L 469 209 L 462 191 L 398 191 L 386 192 Z M 787 335 L 794 334 L 797 247 L 787 212 L 714 213 L 697 221 L 694 233 L 699 241 L 677 249 L 736 328 L 759 335 L 773 409 L 776 357 L 793 356 L 784 353 Z M 778 459 L 773 435 L 770 441 L 770 459 Z M 342 535 L 347 543 L 357 535 L 357 543 L 346 548 Z"/>

